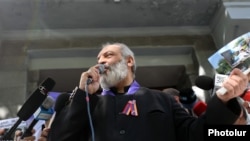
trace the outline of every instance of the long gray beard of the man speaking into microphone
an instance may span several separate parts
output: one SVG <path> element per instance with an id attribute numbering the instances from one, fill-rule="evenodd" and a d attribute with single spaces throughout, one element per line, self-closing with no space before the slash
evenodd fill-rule
<path id="1" fill-rule="evenodd" d="M 109 66 L 108 74 L 103 74 L 100 77 L 100 85 L 102 89 L 109 90 L 114 87 L 122 79 L 127 76 L 128 70 L 125 59 L 122 59 L 116 64 Z"/>

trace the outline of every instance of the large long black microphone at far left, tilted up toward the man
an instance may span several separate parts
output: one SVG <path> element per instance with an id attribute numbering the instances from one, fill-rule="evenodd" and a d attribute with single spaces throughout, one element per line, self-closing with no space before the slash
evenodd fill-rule
<path id="1" fill-rule="evenodd" d="M 18 120 L 16 123 L 8 130 L 8 132 L 1 138 L 1 140 L 11 140 L 13 132 L 16 130 L 18 125 L 22 121 L 26 121 L 32 114 L 38 109 L 45 98 L 48 96 L 48 92 L 55 86 L 55 81 L 51 78 L 44 80 L 38 88 L 30 95 L 30 97 L 23 104 L 21 109 L 18 111 Z"/>

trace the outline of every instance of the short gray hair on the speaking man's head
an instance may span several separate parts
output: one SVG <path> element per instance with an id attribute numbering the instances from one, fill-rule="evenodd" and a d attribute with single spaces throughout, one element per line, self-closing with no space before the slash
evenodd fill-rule
<path id="1" fill-rule="evenodd" d="M 134 60 L 134 66 L 132 67 L 132 72 L 134 73 L 134 77 L 135 77 L 135 71 L 136 71 L 136 61 L 135 61 L 135 55 L 134 55 L 134 52 L 125 44 L 123 43 L 105 43 L 102 45 L 102 48 L 105 48 L 106 46 L 109 46 L 109 45 L 116 45 L 120 48 L 121 50 L 121 54 L 122 54 L 122 57 L 124 59 L 126 59 L 127 57 L 132 57 L 133 60 Z"/>

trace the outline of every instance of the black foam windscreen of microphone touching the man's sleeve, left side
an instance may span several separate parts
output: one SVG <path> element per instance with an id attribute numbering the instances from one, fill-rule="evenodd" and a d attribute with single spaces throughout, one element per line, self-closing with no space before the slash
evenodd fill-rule
<path id="1" fill-rule="evenodd" d="M 59 113 L 61 111 L 61 109 L 66 105 L 66 103 L 69 100 L 69 97 L 70 97 L 69 93 L 61 93 L 57 97 L 55 107 L 54 107 L 56 113 Z"/>

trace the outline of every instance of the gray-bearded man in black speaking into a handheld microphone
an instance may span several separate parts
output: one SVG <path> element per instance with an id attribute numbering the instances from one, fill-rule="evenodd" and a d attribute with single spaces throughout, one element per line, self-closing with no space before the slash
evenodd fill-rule
<path id="1" fill-rule="evenodd" d="M 136 81 L 136 60 L 127 45 L 106 43 L 40 141 L 203 141 L 204 125 L 233 125 L 239 118 L 236 98 L 247 84 L 247 76 L 233 69 L 223 83 L 227 93 L 217 92 L 205 114 L 193 117 L 172 96 Z"/>

